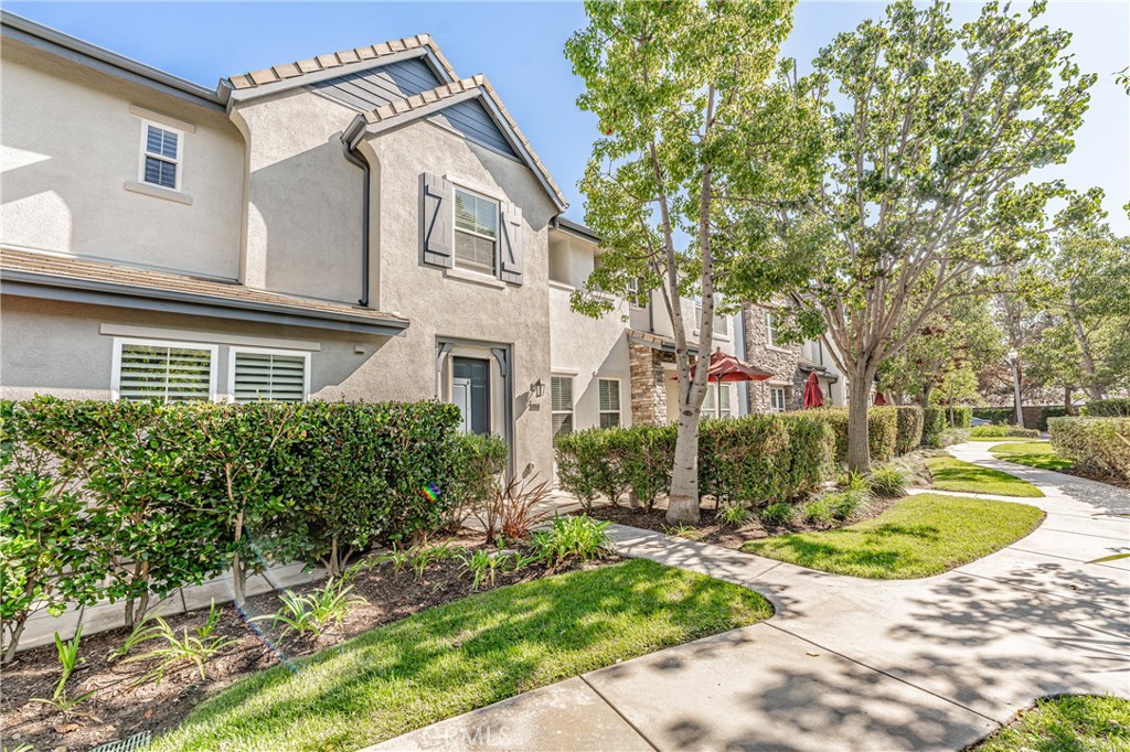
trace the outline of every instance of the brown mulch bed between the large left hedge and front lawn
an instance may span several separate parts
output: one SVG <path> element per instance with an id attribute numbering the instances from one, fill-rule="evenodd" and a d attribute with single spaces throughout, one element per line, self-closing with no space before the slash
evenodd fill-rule
<path id="1" fill-rule="evenodd" d="M 479 533 L 464 532 L 451 537 L 453 545 L 483 548 Z M 434 541 L 440 543 L 442 541 Z M 531 565 L 519 571 L 498 571 L 495 584 L 484 583 L 479 592 L 557 575 L 571 569 L 602 566 L 562 566 L 549 568 Z M 107 654 L 120 647 L 130 630 L 122 628 L 82 637 L 80 655 L 86 663 L 75 671 L 67 684 L 68 694 L 77 697 L 90 690 L 97 694 L 81 703 L 77 710 L 84 715 L 64 719 L 54 709 L 32 698 L 50 698 L 59 681 L 59 659 L 54 645 L 17 654 L 10 666 L 5 666 L 0 687 L 0 728 L 8 749 L 21 743 L 35 750 L 88 750 L 105 742 L 124 738 L 141 731 L 154 737 L 175 728 L 203 700 L 255 672 L 292 661 L 364 631 L 402 619 L 424 609 L 450 603 L 471 594 L 470 575 L 459 561 L 432 565 L 423 579 L 410 570 L 393 572 L 391 565 L 382 565 L 360 574 L 353 594 L 367 602 L 354 607 L 340 630 L 323 635 L 318 641 L 287 637 L 270 629 L 269 621 L 252 626 L 247 618 L 271 614 L 279 607 L 275 593 L 247 598 L 244 613 L 232 604 L 217 604 L 223 618 L 215 635 L 237 638 L 238 641 L 221 650 L 207 664 L 208 680 L 201 681 L 194 666 L 166 672 L 159 687 L 151 682 L 137 685 L 153 664 L 137 662 L 123 664 L 108 662 Z M 321 583 L 293 588 L 306 592 Z M 202 624 L 208 610 L 166 618 L 179 633 Z M 262 632 L 260 637 L 258 632 Z M 134 650 L 140 655 L 158 642 L 142 644 Z"/>

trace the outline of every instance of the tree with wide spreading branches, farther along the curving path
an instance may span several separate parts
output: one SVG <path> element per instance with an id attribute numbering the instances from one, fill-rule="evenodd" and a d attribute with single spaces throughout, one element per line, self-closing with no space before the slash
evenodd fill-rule
<path id="1" fill-rule="evenodd" d="M 870 465 L 868 393 L 883 361 L 1046 243 L 1044 207 L 1061 186 L 1023 181 L 1070 154 L 1095 77 L 1066 53 L 1068 33 L 1040 25 L 1044 10 L 989 2 L 955 27 L 946 3 L 898 0 L 884 21 L 837 36 L 806 79 L 831 149 L 794 217 L 826 237 L 823 273 L 794 298 L 847 376 L 853 470 Z"/>

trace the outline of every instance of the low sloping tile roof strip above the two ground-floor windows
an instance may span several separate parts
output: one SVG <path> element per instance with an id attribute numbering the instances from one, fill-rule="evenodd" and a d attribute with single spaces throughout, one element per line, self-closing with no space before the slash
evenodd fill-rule
<path id="1" fill-rule="evenodd" d="M 218 307 L 272 311 L 296 316 L 344 322 L 408 325 L 398 314 L 362 308 L 345 303 L 301 298 L 282 292 L 257 290 L 238 282 L 189 274 L 122 266 L 71 256 L 0 248 L 0 278 L 75 289 L 111 289 L 136 297 L 199 301 Z"/>

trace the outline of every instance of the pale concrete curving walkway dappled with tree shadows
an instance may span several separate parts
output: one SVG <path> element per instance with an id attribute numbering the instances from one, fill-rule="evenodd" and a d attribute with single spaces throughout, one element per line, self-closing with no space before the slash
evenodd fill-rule
<path id="1" fill-rule="evenodd" d="M 421 728 L 371 750 L 959 750 L 1038 697 L 1130 698 L 1130 491 L 950 452 L 1036 486 L 1027 537 L 953 571 L 869 580 L 615 526 L 617 549 L 742 584 L 770 621 Z M 967 495 L 962 495 L 967 496 Z M 983 497 L 1005 498 L 1005 497 Z"/>

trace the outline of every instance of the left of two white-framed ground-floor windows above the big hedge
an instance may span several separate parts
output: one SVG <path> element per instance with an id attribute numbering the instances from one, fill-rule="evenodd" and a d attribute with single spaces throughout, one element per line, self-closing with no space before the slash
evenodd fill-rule
<path id="1" fill-rule="evenodd" d="M 113 400 L 216 399 L 217 346 L 114 338 L 113 347 Z"/>

